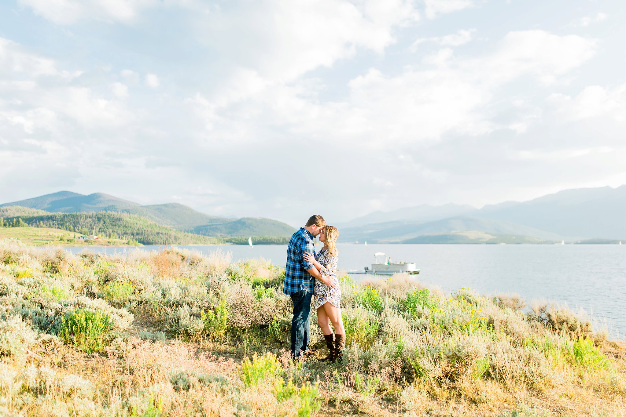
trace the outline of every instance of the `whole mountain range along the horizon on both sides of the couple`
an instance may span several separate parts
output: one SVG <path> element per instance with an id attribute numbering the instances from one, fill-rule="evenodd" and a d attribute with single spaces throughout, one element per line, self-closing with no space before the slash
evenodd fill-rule
<path id="1" fill-rule="evenodd" d="M 109 194 L 89 195 L 59 191 L 36 198 L 0 204 L 42 213 L 114 212 L 141 216 L 179 231 L 205 236 L 289 236 L 289 224 L 267 218 L 224 218 L 200 213 L 178 203 L 142 206 Z M 23 210 L 15 211 L 26 214 Z M 9 213 L 7 211 L 7 213 Z M 579 188 L 548 194 L 530 201 L 505 201 L 483 208 L 466 204 L 421 204 L 374 213 L 337 224 L 340 242 L 444 243 L 468 241 L 613 241 L 626 240 L 626 185 L 618 188 Z M 4 214 L 8 216 L 8 214 Z M 472 231 L 470 234 L 459 234 Z M 473 238 L 488 234 L 491 238 Z M 439 237 L 437 237 L 439 236 Z M 608 240 L 607 240 L 608 239 Z"/>

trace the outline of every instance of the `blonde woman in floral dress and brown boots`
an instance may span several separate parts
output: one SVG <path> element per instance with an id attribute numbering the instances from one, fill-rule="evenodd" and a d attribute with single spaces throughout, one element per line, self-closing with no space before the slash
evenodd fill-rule
<path id="1" fill-rule="evenodd" d="M 339 231 L 334 226 L 323 228 L 317 238 L 324 243 L 317 256 L 305 253 L 304 259 L 312 263 L 320 272 L 321 278 L 316 279 L 314 306 L 317 310 L 317 323 L 322 328 L 326 346 L 330 353 L 322 361 L 335 362 L 341 359 L 344 349 L 346 349 L 346 329 L 341 319 L 341 289 L 337 279 L 337 237 Z M 332 333 L 331 325 L 335 328 Z"/>

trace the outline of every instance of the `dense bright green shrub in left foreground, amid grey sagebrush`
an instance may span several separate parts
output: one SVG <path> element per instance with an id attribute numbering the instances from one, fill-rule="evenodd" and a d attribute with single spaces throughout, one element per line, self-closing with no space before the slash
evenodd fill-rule
<path id="1" fill-rule="evenodd" d="M 100 311 L 76 310 L 61 318 L 60 336 L 81 351 L 100 351 L 113 329 L 111 316 Z"/>

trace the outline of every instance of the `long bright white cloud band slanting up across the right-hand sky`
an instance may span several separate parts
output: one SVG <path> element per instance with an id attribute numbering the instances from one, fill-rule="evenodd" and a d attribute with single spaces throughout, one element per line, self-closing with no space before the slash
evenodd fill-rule
<path id="1" fill-rule="evenodd" d="M 238 96 L 238 104 L 200 94 L 188 104 L 207 128 L 246 141 L 255 140 L 245 128 L 248 123 L 270 124 L 329 143 L 341 140 L 378 148 L 438 140 L 446 133 L 485 134 L 498 127 L 523 133 L 532 117 L 502 125 L 491 121 L 488 107 L 496 90 L 521 76 L 555 83 L 590 58 L 594 48 L 593 41 L 579 36 L 511 32 L 494 51 L 479 58 L 459 59 L 444 48 L 426 56 L 423 65 L 408 66 L 398 75 L 369 69 L 349 82 L 342 101 L 319 103 L 315 95 L 303 94 L 304 84 L 257 84 L 245 88 L 257 93 L 247 99 Z"/>

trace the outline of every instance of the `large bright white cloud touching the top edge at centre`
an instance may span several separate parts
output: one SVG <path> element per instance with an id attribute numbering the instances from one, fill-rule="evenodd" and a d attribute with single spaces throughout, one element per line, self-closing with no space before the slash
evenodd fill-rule
<path id="1" fill-rule="evenodd" d="M 314 69 L 331 68 L 359 48 L 382 54 L 396 42 L 396 27 L 419 19 L 413 0 L 266 0 L 243 6 L 212 9 L 196 21 L 198 38 L 217 51 L 227 68 L 218 88 L 220 101 L 243 99 L 259 86 L 290 83 Z"/>

